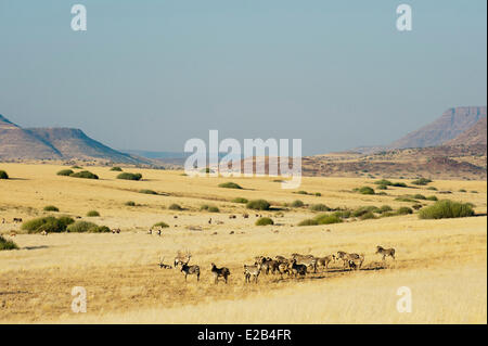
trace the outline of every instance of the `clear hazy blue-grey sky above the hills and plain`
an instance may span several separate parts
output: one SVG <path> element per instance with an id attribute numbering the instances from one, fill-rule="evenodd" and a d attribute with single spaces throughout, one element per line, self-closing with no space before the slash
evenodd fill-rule
<path id="1" fill-rule="evenodd" d="M 73 31 L 70 7 L 88 10 Z M 412 5 L 413 30 L 396 29 Z M 0 114 L 116 149 L 301 138 L 386 144 L 486 105 L 486 0 L 0 0 Z"/>

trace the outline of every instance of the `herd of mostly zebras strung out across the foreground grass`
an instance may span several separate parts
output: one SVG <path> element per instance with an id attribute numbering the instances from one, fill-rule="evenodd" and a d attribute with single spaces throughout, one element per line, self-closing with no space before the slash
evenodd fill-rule
<path id="1" fill-rule="evenodd" d="M 383 260 L 386 257 L 391 257 L 395 260 L 395 248 L 384 248 L 382 246 L 376 246 L 376 253 L 383 256 Z M 180 272 L 184 274 L 184 280 L 187 281 L 188 275 L 195 275 L 196 281 L 200 281 L 200 266 L 189 265 L 192 255 L 187 253 L 182 255 L 180 252 L 175 257 L 174 266 L 165 265 L 164 257 L 159 258 L 159 268 L 162 269 L 180 269 Z M 332 255 L 316 257 L 313 255 L 301 255 L 292 254 L 290 258 L 283 256 L 274 256 L 274 258 L 267 256 L 257 256 L 254 258 L 254 265 L 244 265 L 244 280 L 246 283 L 251 281 L 257 283 L 259 274 L 262 272 L 265 274 L 280 274 L 283 278 L 284 274 L 292 278 L 304 278 L 311 270 L 316 273 L 318 269 L 322 271 L 329 271 L 329 265 L 331 262 L 342 261 L 344 269 L 359 270 L 364 262 L 363 254 L 349 254 L 345 252 L 337 252 Z M 218 268 L 214 262 L 210 268 L 211 275 L 214 277 L 214 282 L 217 284 L 219 278 L 222 278 L 226 283 L 228 283 L 229 275 L 231 274 L 229 268 L 221 267 Z"/>

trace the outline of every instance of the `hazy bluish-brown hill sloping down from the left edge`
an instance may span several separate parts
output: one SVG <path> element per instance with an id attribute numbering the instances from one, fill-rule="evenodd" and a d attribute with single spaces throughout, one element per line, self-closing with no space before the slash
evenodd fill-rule
<path id="1" fill-rule="evenodd" d="M 82 159 L 134 165 L 151 161 L 113 150 L 72 128 L 23 129 L 0 115 L 0 159 Z"/>

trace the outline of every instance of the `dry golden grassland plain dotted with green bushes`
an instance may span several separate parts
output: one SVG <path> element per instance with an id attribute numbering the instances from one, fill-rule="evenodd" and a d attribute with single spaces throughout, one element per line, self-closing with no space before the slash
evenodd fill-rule
<path id="1" fill-rule="evenodd" d="M 266 198 L 273 206 L 294 200 L 306 204 L 355 208 L 364 205 L 411 206 L 395 201 L 422 193 L 471 202 L 478 214 L 487 212 L 486 181 L 434 181 L 439 191 L 389 188 L 387 195 L 361 195 L 354 188 L 372 184 L 359 178 L 304 178 L 297 190 L 281 189 L 277 178 L 191 178 L 181 171 L 127 168 L 141 172 L 142 181 L 117 180 L 108 167 L 89 167 L 100 180 L 56 176 L 63 166 L 1 164 L 12 179 L 0 180 L 0 233 L 21 247 L 0 252 L 0 322 L 47 323 L 486 323 L 487 218 L 421 220 L 395 216 L 328 226 L 297 227 L 316 214 L 303 208 L 249 212 L 234 197 Z M 397 181 L 398 179 L 394 179 Z M 233 181 L 244 190 L 222 189 Z M 409 181 L 406 181 L 409 182 Z M 141 189 L 160 195 L 139 193 Z M 458 192 L 464 189 L 467 192 Z M 478 193 L 472 193 L 477 191 Z M 126 206 L 133 201 L 139 206 Z M 170 210 L 172 203 L 184 210 Z M 422 201 L 423 204 L 432 204 Z M 220 213 L 201 212 L 203 204 Z M 59 213 L 42 212 L 55 205 Z M 100 217 L 85 217 L 95 209 Z M 248 213 L 248 219 L 242 214 Z M 43 215 L 81 216 L 81 219 L 120 228 L 112 233 L 25 234 L 12 218 Z M 255 214 L 275 225 L 254 226 Z M 229 219 L 229 215 L 236 215 Z M 178 218 L 175 218 L 177 216 Z M 211 217 L 213 223 L 208 223 Z M 170 227 L 162 236 L 147 234 L 152 225 Z M 223 225 L 216 225 L 221 221 Z M 202 231 L 189 227 L 202 227 Z M 233 231 L 233 234 L 230 234 Z M 397 259 L 382 261 L 376 245 L 395 247 Z M 159 257 L 171 264 L 178 251 L 192 253 L 190 264 L 202 268 L 201 281 L 179 270 L 159 269 Z M 305 279 L 259 277 L 246 284 L 243 264 L 257 255 L 337 251 L 362 253 L 361 270 L 344 270 L 339 262 L 329 272 Z M 215 285 L 210 262 L 230 268 L 229 284 Z M 74 286 L 88 294 L 86 313 L 70 309 Z M 400 313 L 397 290 L 412 292 L 412 312 Z"/>

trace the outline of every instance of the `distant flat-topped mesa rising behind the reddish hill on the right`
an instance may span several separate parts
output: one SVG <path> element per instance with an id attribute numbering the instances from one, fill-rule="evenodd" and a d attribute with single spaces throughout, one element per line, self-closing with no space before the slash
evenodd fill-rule
<path id="1" fill-rule="evenodd" d="M 483 117 L 486 117 L 486 106 L 449 108 L 434 123 L 408 133 L 393 142 L 388 148 L 403 149 L 440 145 L 466 131 Z"/>

